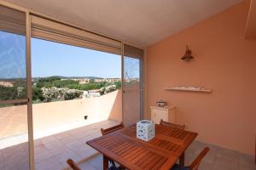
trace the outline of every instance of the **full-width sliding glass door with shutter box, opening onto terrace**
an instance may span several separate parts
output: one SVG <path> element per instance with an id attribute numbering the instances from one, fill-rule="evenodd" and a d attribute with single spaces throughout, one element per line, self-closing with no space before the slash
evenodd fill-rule
<path id="1" fill-rule="evenodd" d="M 143 118 L 142 49 L 125 44 L 121 56 L 119 40 L 20 10 L 0 4 L 1 170 L 29 170 L 34 164 L 42 165 L 38 161 L 42 157 L 33 159 L 33 129 L 35 139 L 41 139 L 56 130 L 67 131 L 67 124 L 79 127 L 84 122 L 108 119 L 128 125 Z M 37 114 L 40 111 L 48 112 Z M 52 113 L 61 116 L 54 119 Z M 53 120 L 58 122 L 49 129 L 47 123 Z M 60 120 L 65 126 L 59 126 Z M 40 142 L 36 145 L 42 148 Z M 61 161 L 66 165 L 66 160 Z"/>

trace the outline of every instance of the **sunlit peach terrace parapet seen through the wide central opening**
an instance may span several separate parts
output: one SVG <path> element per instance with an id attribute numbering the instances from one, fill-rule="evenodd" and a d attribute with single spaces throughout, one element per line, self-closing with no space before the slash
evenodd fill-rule
<path id="1" fill-rule="evenodd" d="M 118 94 L 119 90 L 116 90 L 96 98 L 34 104 L 32 107 L 34 131 L 80 121 L 85 115 L 88 119 L 110 118 L 119 121 L 122 114 L 121 105 L 117 102 Z"/>

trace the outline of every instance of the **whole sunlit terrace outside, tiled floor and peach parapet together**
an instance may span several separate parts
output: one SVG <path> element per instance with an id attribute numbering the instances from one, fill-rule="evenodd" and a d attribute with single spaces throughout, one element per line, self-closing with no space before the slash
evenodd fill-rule
<path id="1" fill-rule="evenodd" d="M 119 102 L 116 90 L 101 97 L 34 104 L 36 169 L 63 169 L 68 158 L 81 162 L 96 155 L 85 142 L 101 136 L 100 128 L 120 122 Z M 0 108 L 0 115 L 0 169 L 27 170 L 26 105 Z"/>

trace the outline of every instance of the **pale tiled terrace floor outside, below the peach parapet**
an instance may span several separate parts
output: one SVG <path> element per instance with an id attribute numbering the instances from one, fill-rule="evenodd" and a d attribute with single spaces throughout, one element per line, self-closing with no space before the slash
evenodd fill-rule
<path id="1" fill-rule="evenodd" d="M 67 167 L 67 159 L 81 162 L 97 151 L 85 144 L 87 140 L 101 136 L 100 128 L 112 127 L 118 122 L 107 120 L 75 128 L 34 140 L 36 170 L 61 170 Z M 28 169 L 27 143 L 0 150 L 1 170 Z"/>

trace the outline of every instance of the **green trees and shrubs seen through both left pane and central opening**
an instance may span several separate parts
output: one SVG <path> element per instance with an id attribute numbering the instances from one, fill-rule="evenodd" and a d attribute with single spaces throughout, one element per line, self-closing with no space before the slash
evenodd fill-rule
<path id="1" fill-rule="evenodd" d="M 33 103 L 79 99 L 84 91 L 101 89 L 101 94 L 108 94 L 121 88 L 121 82 L 96 82 L 93 78 L 80 84 L 73 79 L 61 77 L 36 78 L 32 82 Z M 26 99 L 26 81 L 13 80 L 13 87 L 0 86 L 0 100 Z M 1 107 L 1 105 L 0 105 Z"/>

